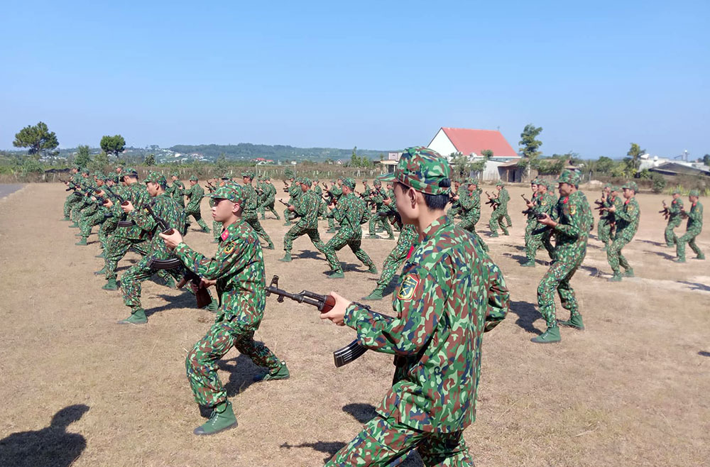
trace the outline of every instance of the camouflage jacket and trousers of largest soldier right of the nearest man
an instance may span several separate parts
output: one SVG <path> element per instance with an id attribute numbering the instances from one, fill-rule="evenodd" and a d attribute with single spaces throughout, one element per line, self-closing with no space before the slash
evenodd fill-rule
<path id="1" fill-rule="evenodd" d="M 554 228 L 555 260 L 537 286 L 537 307 L 548 328 L 557 327 L 555 290 L 562 301 L 562 307 L 569 309 L 572 316 L 579 314 L 577 299 L 569 281 L 584 261 L 589 227 L 594 220 L 589 202 L 579 190 L 568 197 L 559 197 L 552 211 L 552 219 L 557 221 Z"/>

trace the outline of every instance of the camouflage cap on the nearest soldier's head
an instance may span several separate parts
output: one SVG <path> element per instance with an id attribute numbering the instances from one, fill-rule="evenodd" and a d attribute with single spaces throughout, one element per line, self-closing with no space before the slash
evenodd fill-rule
<path id="1" fill-rule="evenodd" d="M 396 180 L 426 194 L 446 194 L 451 191 L 450 187 L 440 185 L 444 180 L 451 183 L 451 167 L 435 150 L 414 146 L 404 150 L 395 171 L 382 180 Z"/>

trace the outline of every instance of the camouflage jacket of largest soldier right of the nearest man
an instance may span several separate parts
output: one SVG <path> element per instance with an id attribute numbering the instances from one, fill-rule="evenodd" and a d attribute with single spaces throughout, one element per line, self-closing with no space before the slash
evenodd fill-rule
<path id="1" fill-rule="evenodd" d="M 589 228 L 594 221 L 591 207 L 579 190 L 568 197 L 559 197 L 552 210 L 555 226 L 555 260 L 560 263 L 581 264 L 586 256 Z"/>

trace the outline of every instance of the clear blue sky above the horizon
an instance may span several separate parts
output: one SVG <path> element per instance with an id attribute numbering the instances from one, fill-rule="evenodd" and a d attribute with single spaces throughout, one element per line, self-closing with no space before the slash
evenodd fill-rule
<path id="1" fill-rule="evenodd" d="M 397 149 L 440 126 L 545 154 L 710 153 L 710 2 L 5 2 L 0 148 Z"/>

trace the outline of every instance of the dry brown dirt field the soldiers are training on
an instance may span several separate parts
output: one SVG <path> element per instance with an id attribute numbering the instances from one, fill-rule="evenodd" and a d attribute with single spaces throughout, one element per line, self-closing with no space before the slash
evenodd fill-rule
<path id="1" fill-rule="evenodd" d="M 639 197 L 640 231 L 625 249 L 636 278 L 606 282 L 606 254 L 590 241 L 572 280 L 587 329 L 562 329 L 562 343 L 540 346 L 529 339 L 544 329 L 536 288 L 547 258 L 541 251 L 537 268 L 518 265 L 525 256 L 519 194 L 529 190 L 510 192 L 511 235 L 486 236 L 487 207 L 479 223 L 512 309 L 486 334 L 477 421 L 465 432 L 476 465 L 708 465 L 710 260 L 689 251 L 687 264 L 672 263 L 657 214 L 670 197 Z M 288 361 L 292 378 L 252 384 L 258 368 L 231 351 L 220 376 L 239 427 L 192 435 L 203 419 L 185 355 L 214 315 L 195 309 L 185 292 L 145 282 L 148 324 L 117 325 L 129 309 L 92 274 L 102 267 L 96 236 L 75 246 L 77 229 L 59 220 L 65 195 L 59 184 L 28 185 L 0 200 L 0 465 L 319 466 L 372 417 L 391 383 L 391 357 L 368 352 L 334 368 L 332 351 L 354 332 L 320 322 L 312 307 L 270 297 L 257 338 Z M 701 202 L 699 245 L 709 256 L 710 201 Z M 202 213 L 211 219 L 206 200 Z M 347 249 L 339 254 L 346 278 L 328 280 L 327 263 L 305 237 L 295 242 L 293 263 L 279 263 L 288 227 L 271 218 L 263 224 L 279 248 L 265 251 L 267 280 L 278 274 L 287 290 L 335 290 L 353 300 L 374 287 L 376 277 Z M 186 241 L 214 252 L 211 235 L 193 230 Z M 364 240 L 378 268 L 393 246 Z M 120 270 L 137 259 L 129 253 Z M 373 309 L 391 312 L 389 298 Z M 421 461 L 411 456 L 405 465 Z"/>

